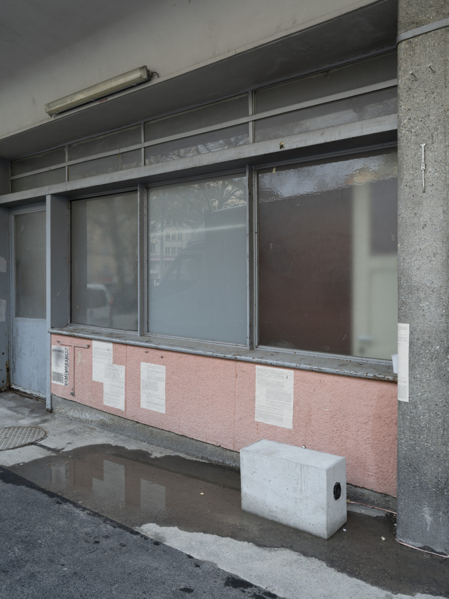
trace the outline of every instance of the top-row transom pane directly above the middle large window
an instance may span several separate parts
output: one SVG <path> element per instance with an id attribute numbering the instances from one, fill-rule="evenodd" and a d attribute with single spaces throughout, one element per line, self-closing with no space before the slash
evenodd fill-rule
<path id="1" fill-rule="evenodd" d="M 145 141 L 158 140 L 248 116 L 248 95 L 207 104 L 145 123 Z"/>

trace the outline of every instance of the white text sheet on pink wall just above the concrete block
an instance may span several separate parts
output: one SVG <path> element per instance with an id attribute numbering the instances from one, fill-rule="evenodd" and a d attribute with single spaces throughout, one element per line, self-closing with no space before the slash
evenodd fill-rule
<path id="1" fill-rule="evenodd" d="M 293 370 L 256 366 L 256 422 L 293 428 Z"/>

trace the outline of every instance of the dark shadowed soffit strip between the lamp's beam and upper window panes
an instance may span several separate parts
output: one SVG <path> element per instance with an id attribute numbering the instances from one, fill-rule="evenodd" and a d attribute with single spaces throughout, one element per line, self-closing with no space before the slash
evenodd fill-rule
<path id="1" fill-rule="evenodd" d="M 160 78 L 59 114 L 40 125 L 0 140 L 0 158 L 14 159 L 325 68 L 395 46 L 396 0 L 381 0 L 336 19 L 217 59 L 174 77 Z M 151 65 L 157 68 L 157 65 Z"/>

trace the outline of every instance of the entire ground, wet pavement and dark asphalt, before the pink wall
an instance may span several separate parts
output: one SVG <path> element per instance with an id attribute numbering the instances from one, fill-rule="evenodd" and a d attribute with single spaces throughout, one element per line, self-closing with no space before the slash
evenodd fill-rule
<path id="1" fill-rule="evenodd" d="M 0 394 L 0 598 L 449 598 L 449 559 L 395 541 L 395 515 L 348 504 L 324 540 L 242 512 L 236 470 Z"/>

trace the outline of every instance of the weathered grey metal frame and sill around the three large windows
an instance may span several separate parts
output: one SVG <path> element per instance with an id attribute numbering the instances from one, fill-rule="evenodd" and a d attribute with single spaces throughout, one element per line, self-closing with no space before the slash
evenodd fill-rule
<path id="1" fill-rule="evenodd" d="M 148 189 L 151 187 L 161 187 L 174 183 L 172 179 L 168 179 L 163 183 L 156 184 L 141 184 L 138 187 L 139 198 L 139 295 L 143 294 L 144 300 L 139 306 L 138 331 L 123 331 L 121 329 L 96 328 L 88 325 L 75 325 L 71 323 L 67 329 L 55 329 L 50 332 L 59 332 L 65 335 L 74 335 L 86 337 L 86 329 L 89 330 L 87 337 L 96 338 L 98 340 L 116 340 L 117 343 L 125 343 L 142 347 L 154 347 L 157 349 L 166 349 L 183 353 L 195 353 L 196 355 L 214 356 L 222 358 L 230 358 L 253 362 L 257 364 L 277 365 L 287 368 L 299 368 L 300 370 L 320 371 L 333 374 L 345 374 L 346 376 L 365 377 L 369 379 L 396 380 L 395 375 L 388 374 L 390 369 L 390 361 L 387 359 L 366 358 L 361 356 L 338 355 L 324 352 L 311 352 L 308 350 L 285 349 L 279 347 L 262 346 L 258 344 L 257 329 L 258 329 L 258 291 L 257 291 L 257 172 L 263 168 L 272 166 L 280 167 L 289 164 L 307 164 L 314 162 L 317 159 L 331 159 L 339 156 L 353 156 L 360 153 L 375 152 L 387 148 L 396 147 L 396 142 L 388 142 L 381 144 L 369 144 L 360 146 L 357 149 L 345 149 L 341 151 L 333 151 L 328 153 L 314 153 L 301 159 L 291 159 L 285 161 L 270 161 L 260 163 L 256 166 L 247 165 L 245 175 L 247 177 L 247 343 L 232 344 L 219 341 L 202 340 L 196 338 L 178 337 L 175 335 L 161 335 L 150 333 L 147 331 L 147 215 L 148 215 Z M 217 165 L 218 166 L 218 165 Z M 228 171 L 217 171 L 213 174 L 208 174 L 202 177 L 184 177 L 177 180 L 176 183 L 207 180 L 212 177 L 224 177 L 226 175 L 241 175 L 242 169 L 233 169 Z M 117 195 L 121 192 L 135 191 L 135 187 L 123 190 L 114 190 L 114 192 L 105 192 L 83 196 L 88 198 L 102 197 L 105 195 Z M 143 192 L 143 193 L 142 193 Z M 73 198 L 75 199 L 75 198 Z M 76 199 L 81 199 L 76 198 Z M 23 211 L 28 210 L 24 207 Z M 143 212 L 144 218 L 141 215 Z M 142 224 L 143 223 L 143 224 Z M 140 256 L 143 256 L 141 258 Z M 143 286 L 143 289 L 142 289 Z M 143 307 L 143 314 L 142 314 Z M 142 323 L 143 331 L 142 334 Z M 276 357 L 278 356 L 278 357 Z M 291 356 L 291 357 L 289 357 Z M 320 365 L 314 365 L 315 363 Z M 342 365 L 346 362 L 347 365 Z M 350 366 L 353 364 L 353 367 Z"/>

